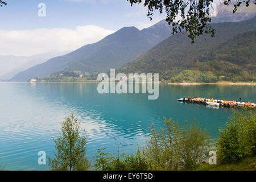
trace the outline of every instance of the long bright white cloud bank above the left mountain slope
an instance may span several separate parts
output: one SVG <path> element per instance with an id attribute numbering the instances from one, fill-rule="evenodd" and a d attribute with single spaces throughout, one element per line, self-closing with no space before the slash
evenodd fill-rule
<path id="1" fill-rule="evenodd" d="M 86 44 L 95 43 L 113 32 L 94 25 L 77 26 L 75 30 L 0 30 L 0 55 L 30 56 L 51 50 L 73 51 Z"/>

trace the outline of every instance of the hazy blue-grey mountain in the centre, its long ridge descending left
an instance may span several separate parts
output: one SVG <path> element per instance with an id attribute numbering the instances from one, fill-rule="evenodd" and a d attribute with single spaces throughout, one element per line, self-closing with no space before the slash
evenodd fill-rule
<path id="1" fill-rule="evenodd" d="M 46 77 L 57 71 L 108 72 L 110 68 L 135 59 L 171 35 L 172 28 L 162 20 L 143 30 L 123 27 L 94 44 L 88 44 L 64 56 L 54 57 L 15 75 L 11 80 L 26 81 Z"/>

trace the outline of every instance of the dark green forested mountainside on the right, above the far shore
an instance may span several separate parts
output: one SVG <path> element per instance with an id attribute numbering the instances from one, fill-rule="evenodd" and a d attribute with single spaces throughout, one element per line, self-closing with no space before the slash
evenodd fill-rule
<path id="1" fill-rule="evenodd" d="M 213 23 L 212 27 L 216 30 L 214 38 L 200 36 L 191 44 L 185 33 L 170 36 L 117 72 L 159 73 L 163 80 L 170 80 L 190 70 L 212 74 L 217 80 L 239 76 L 241 81 L 253 80 L 256 16 L 241 22 Z"/>

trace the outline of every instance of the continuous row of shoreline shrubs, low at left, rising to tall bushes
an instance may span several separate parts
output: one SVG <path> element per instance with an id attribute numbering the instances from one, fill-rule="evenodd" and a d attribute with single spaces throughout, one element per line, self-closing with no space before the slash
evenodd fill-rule
<path id="1" fill-rule="evenodd" d="M 110 156 L 98 149 L 94 169 L 96 170 L 178 170 L 195 169 L 207 158 L 209 137 L 207 130 L 202 130 L 199 123 L 185 122 L 180 127 L 174 119 L 164 118 L 165 128 L 156 131 L 151 126 L 151 137 L 146 147 L 131 155 Z"/>

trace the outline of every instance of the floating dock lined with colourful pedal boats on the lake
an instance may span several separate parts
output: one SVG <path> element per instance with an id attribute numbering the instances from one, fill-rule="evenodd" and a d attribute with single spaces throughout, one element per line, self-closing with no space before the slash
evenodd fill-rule
<path id="1" fill-rule="evenodd" d="M 216 106 L 216 107 L 249 107 L 250 109 L 256 108 L 256 104 L 253 102 L 216 100 L 213 98 L 209 99 L 209 98 L 201 98 L 201 97 L 194 97 L 194 98 L 184 97 L 184 98 L 179 98 L 177 101 L 212 105 L 212 106 Z"/>

